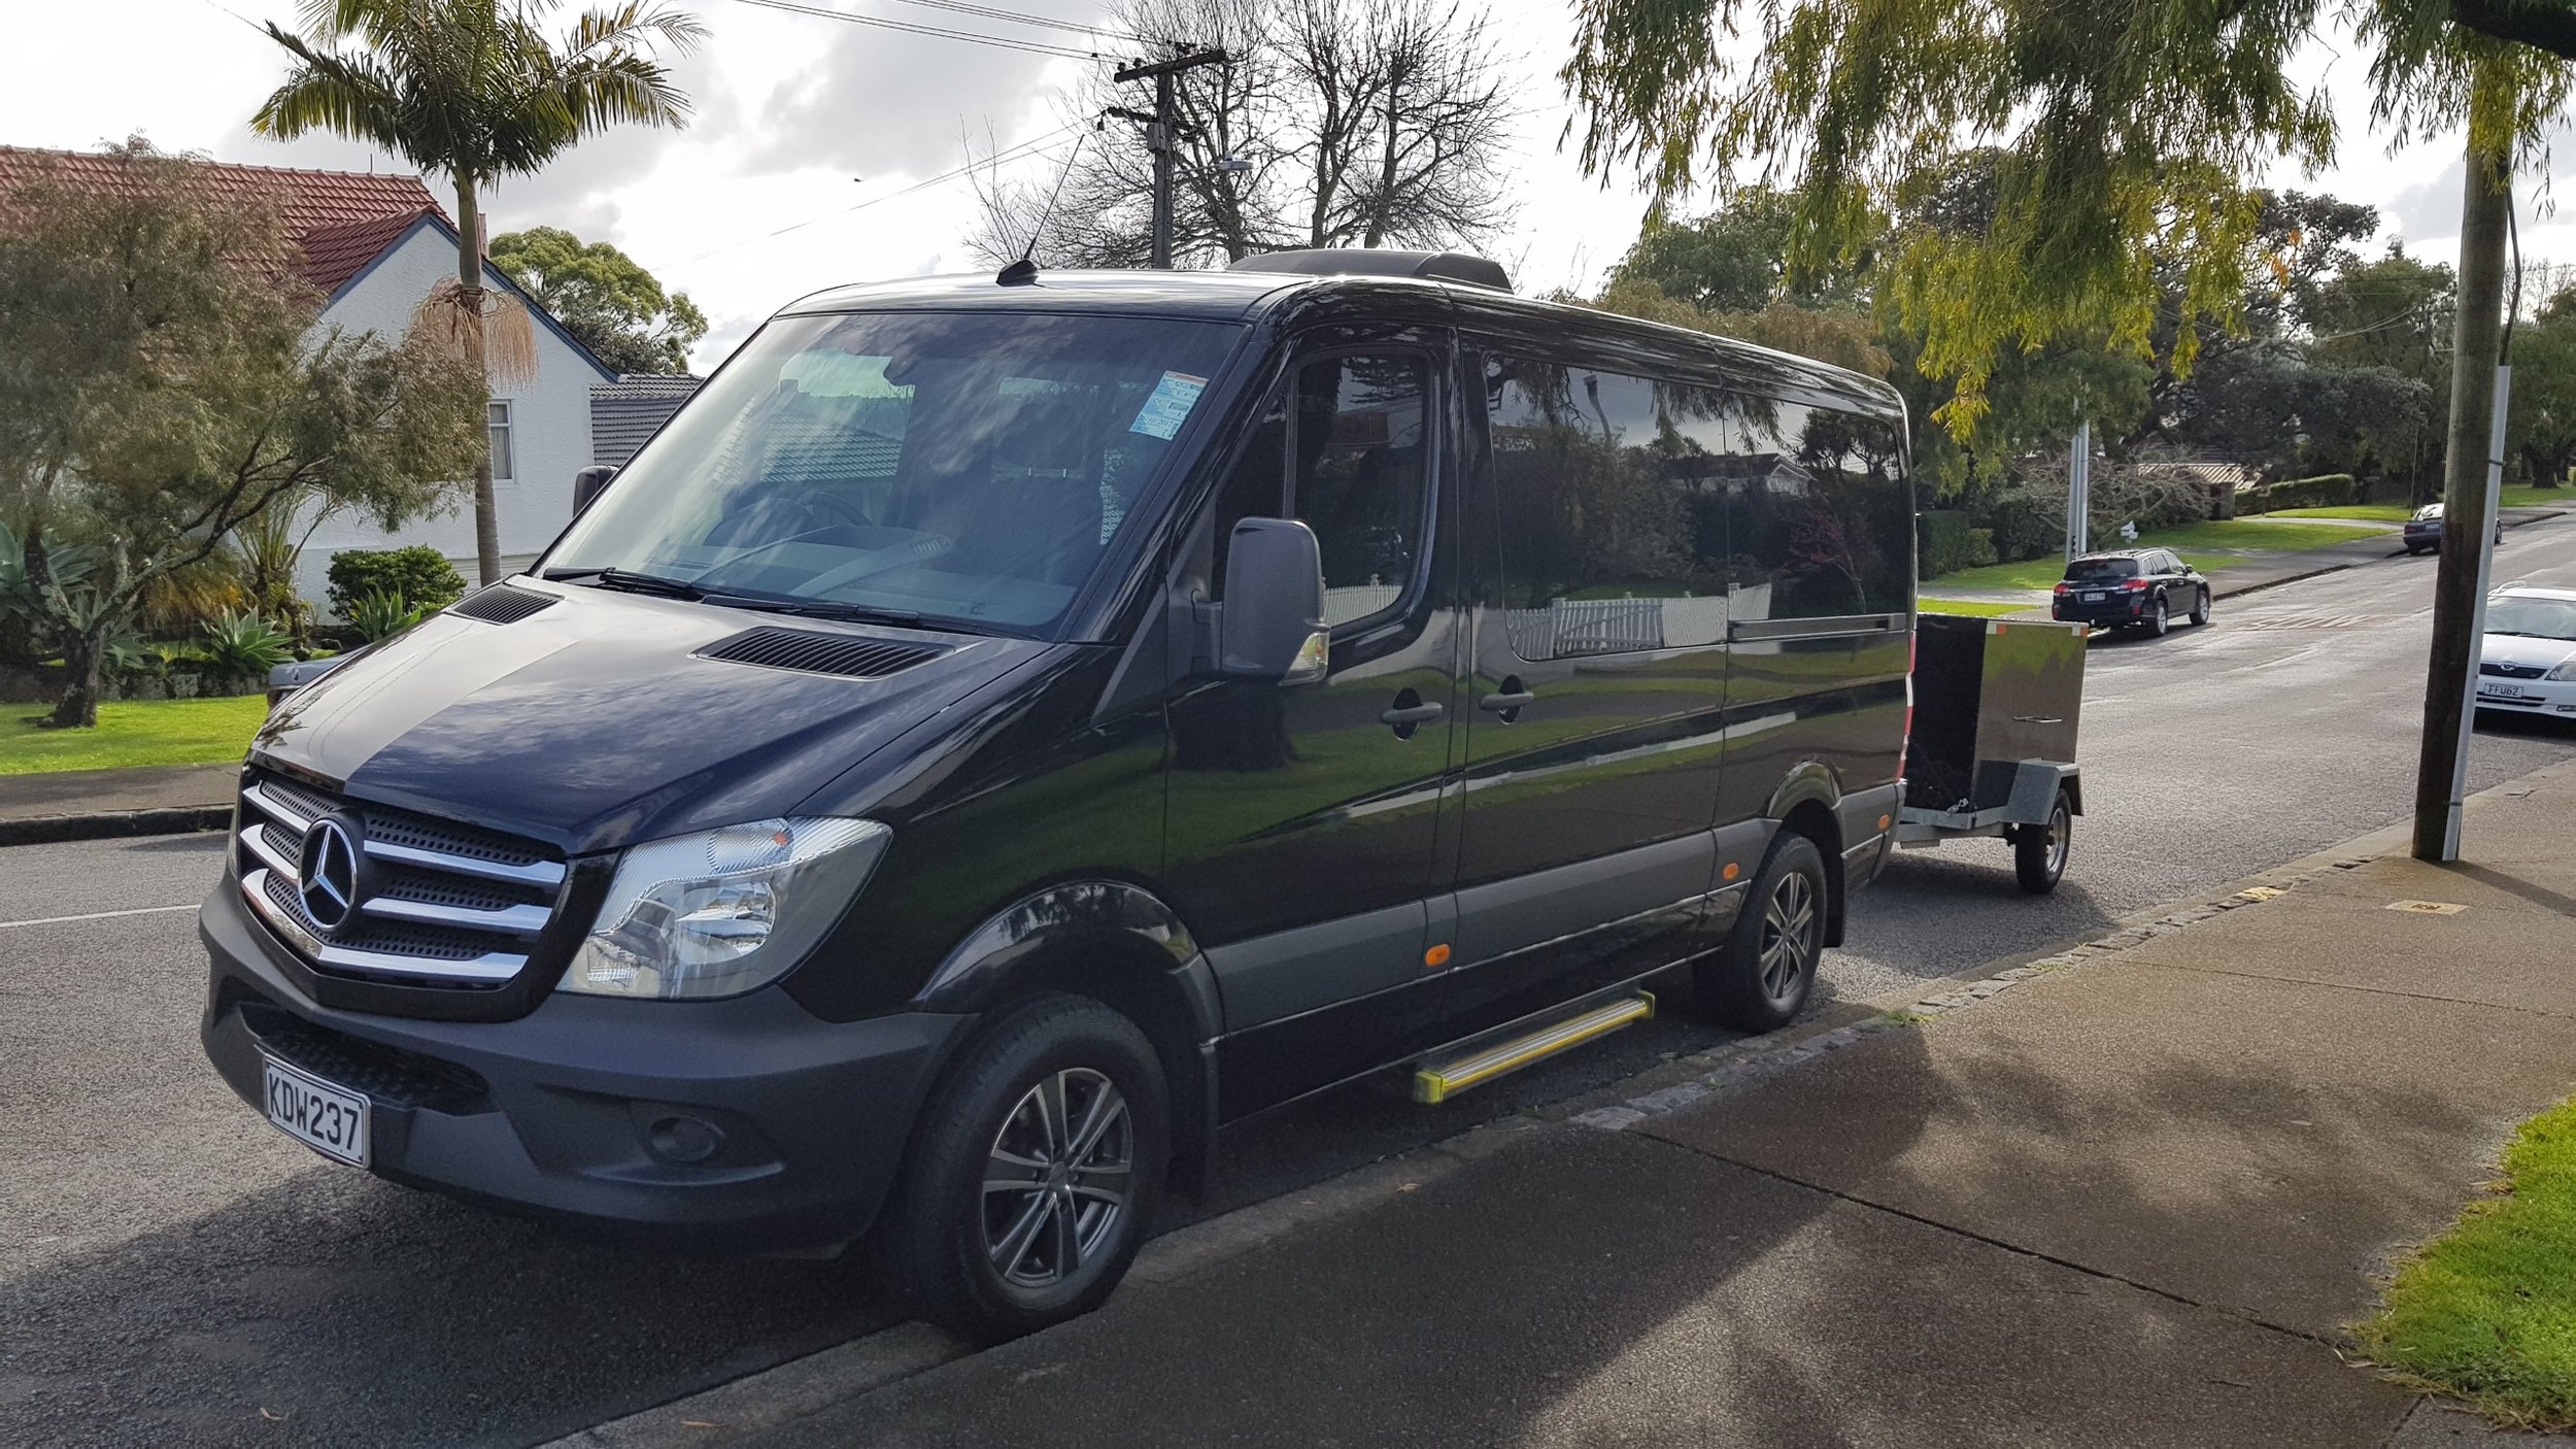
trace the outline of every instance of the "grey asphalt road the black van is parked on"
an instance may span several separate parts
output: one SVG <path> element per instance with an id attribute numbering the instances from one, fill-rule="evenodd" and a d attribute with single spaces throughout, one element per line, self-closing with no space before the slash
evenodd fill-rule
<path id="1" fill-rule="evenodd" d="M 2501 559 L 2576 585 L 2576 518 Z M 1893 998 L 2406 815 L 2429 583 L 2388 559 L 2097 645 L 2066 884 L 2020 895 L 1999 843 L 1899 856 L 1826 993 Z M 2470 784 L 2568 755 L 2576 732 L 2481 732 Z M 196 1049 L 219 851 L 0 851 L 0 1444 L 536 1444 L 889 1320 L 842 1263 L 592 1248 L 276 1134 Z M 1229 1142 L 1211 1209 L 1716 1039 L 1672 1013 L 1443 1109 L 1319 1098 Z"/>

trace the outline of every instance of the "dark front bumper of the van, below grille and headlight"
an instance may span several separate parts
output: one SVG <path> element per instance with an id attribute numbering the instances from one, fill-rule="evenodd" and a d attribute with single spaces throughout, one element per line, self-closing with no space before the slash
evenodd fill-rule
<path id="1" fill-rule="evenodd" d="M 866 1232 L 971 1021 L 819 1021 L 775 987 L 549 995 L 515 1021 L 332 1011 L 294 987 L 229 877 L 198 936 L 206 1057 L 252 1109 L 278 1057 L 371 1101 L 384 1178 L 672 1248 L 819 1250 Z"/>

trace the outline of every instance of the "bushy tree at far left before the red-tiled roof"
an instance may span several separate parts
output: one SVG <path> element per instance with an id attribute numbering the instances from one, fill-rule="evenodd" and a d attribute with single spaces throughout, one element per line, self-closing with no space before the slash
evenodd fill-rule
<path id="1" fill-rule="evenodd" d="M 438 511 L 482 449 L 482 376 L 425 340 L 314 335 L 276 217 L 183 160 L 108 150 L 111 188 L 36 183 L 0 211 L 0 521 L 8 603 L 64 660 L 54 724 L 98 722 L 100 668 L 160 583 L 273 508 L 384 526 Z"/>

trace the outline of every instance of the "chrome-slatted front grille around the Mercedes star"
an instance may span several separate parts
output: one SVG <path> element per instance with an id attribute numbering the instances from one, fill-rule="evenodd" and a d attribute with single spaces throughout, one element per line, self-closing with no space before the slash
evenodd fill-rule
<path id="1" fill-rule="evenodd" d="M 304 835 L 325 815 L 355 825 L 371 877 L 337 928 L 304 902 Z M 343 799 L 270 771 L 245 776 L 234 856 L 250 908 L 317 972 L 399 985 L 510 982 L 564 890 L 562 856 L 533 841 Z"/>

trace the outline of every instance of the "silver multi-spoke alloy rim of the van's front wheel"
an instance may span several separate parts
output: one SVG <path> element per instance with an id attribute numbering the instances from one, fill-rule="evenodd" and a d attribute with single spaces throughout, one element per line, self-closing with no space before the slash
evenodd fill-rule
<path id="1" fill-rule="evenodd" d="M 1036 1292 L 1110 1243 L 1136 1191 L 1136 1124 L 1110 1078 L 1066 1067 L 1020 1096 L 984 1160 L 984 1253 Z"/>

